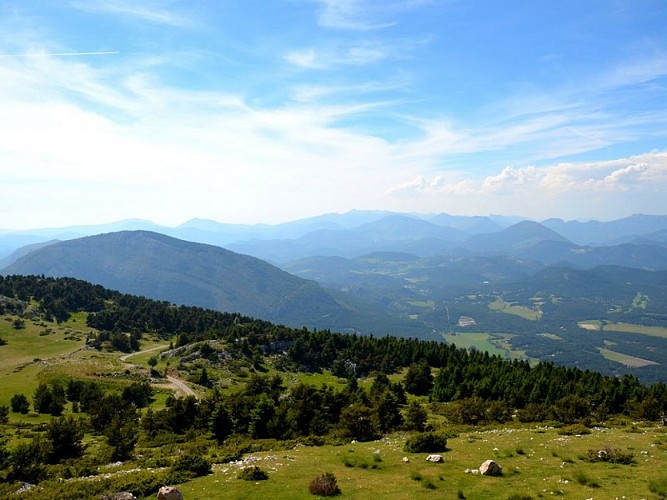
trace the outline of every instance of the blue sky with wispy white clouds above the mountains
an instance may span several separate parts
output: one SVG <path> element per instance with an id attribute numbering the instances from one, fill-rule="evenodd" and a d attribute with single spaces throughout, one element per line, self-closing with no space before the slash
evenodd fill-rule
<path id="1" fill-rule="evenodd" d="M 664 0 L 3 0 L 0 228 L 667 213 Z"/>

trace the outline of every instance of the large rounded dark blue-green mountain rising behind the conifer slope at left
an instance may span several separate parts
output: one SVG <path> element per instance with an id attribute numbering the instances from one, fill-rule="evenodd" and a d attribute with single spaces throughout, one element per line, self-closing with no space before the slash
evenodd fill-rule
<path id="1" fill-rule="evenodd" d="M 125 293 L 292 326 L 356 328 L 373 317 L 365 305 L 346 302 L 254 257 L 147 231 L 55 243 L 2 272 L 71 276 Z"/>

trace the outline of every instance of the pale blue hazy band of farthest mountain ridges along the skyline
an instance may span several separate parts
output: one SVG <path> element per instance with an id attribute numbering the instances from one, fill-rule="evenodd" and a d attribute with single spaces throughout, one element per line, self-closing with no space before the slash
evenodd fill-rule
<path id="1" fill-rule="evenodd" d="M 521 224 L 517 226 L 518 223 Z M 506 238 L 512 234 L 517 238 L 521 233 L 520 228 L 526 233 L 523 241 L 517 239 L 508 245 Z M 527 228 L 532 229 L 529 231 Z M 546 229 L 554 231 L 558 236 L 548 233 Z M 227 224 L 192 219 L 177 227 L 166 227 L 150 221 L 129 219 L 92 226 L 30 231 L 0 230 L 0 258 L 7 259 L 13 251 L 26 244 L 122 230 L 149 230 L 178 239 L 223 246 L 281 265 L 316 255 L 354 258 L 378 251 L 409 252 L 421 257 L 489 251 L 500 253 L 500 249 L 507 254 L 516 253 L 519 247 L 530 247 L 530 238 L 533 238 L 533 244 L 544 240 L 569 240 L 577 248 L 623 243 L 664 248 L 667 244 L 664 233 L 667 231 L 667 216 L 661 215 L 633 215 L 610 222 L 547 219 L 538 225 L 537 222 L 519 217 L 360 210 L 345 214 L 324 214 L 276 225 Z M 533 257 L 539 259 L 540 255 L 530 256 Z M 557 262 L 553 258 L 546 258 L 545 261 Z M 577 265 L 576 262 L 572 263 Z M 596 261 L 585 265 L 607 263 L 617 262 Z M 643 267 L 643 264 L 638 262 L 636 266 Z"/>

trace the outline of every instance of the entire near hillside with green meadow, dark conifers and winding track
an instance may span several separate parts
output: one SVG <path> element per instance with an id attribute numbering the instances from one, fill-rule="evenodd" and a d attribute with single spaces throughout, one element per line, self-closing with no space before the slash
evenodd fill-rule
<path id="1" fill-rule="evenodd" d="M 0 297 L 3 498 L 151 497 L 165 484 L 186 498 L 663 487 L 662 383 L 293 329 L 74 279 L 0 278 Z M 487 460 L 503 474 L 475 473 Z"/>

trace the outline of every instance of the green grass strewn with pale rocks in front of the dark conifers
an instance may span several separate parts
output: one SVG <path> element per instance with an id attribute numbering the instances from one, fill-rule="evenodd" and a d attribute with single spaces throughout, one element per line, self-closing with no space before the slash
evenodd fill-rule
<path id="1" fill-rule="evenodd" d="M 473 434 L 477 439 L 472 439 Z M 624 433 L 621 428 L 595 429 L 581 437 L 560 436 L 553 428 L 488 429 L 462 432 L 451 438 L 450 451 L 443 454 L 445 462 L 431 464 L 426 462 L 426 454 L 405 453 L 405 435 L 395 434 L 371 443 L 254 454 L 261 458 L 257 464 L 269 474 L 268 481 L 258 484 L 236 479 L 236 466 L 219 464 L 212 475 L 179 488 L 188 500 L 222 495 L 229 499 L 311 499 L 314 497 L 308 492 L 309 482 L 324 472 L 332 472 L 342 498 L 443 498 L 444 492 L 444 498 L 455 498 L 456 492 L 464 492 L 466 498 L 475 499 L 504 499 L 516 492 L 533 498 L 651 498 L 649 485 L 658 491 L 664 488 L 661 464 L 667 460 L 666 447 L 651 445 L 665 437 L 665 430 L 660 427 L 646 428 L 638 434 Z M 584 463 L 576 458 L 609 443 L 623 443 L 624 450 L 632 448 L 636 455 L 638 450 L 650 452 L 632 466 Z M 501 453 L 506 456 L 496 460 L 503 466 L 502 477 L 465 473 L 494 458 L 495 448 L 518 449 L 522 453 Z M 381 467 L 372 469 L 370 457 L 378 450 Z M 361 457 L 369 467 L 346 466 L 342 455 Z M 266 456 L 275 460 L 265 460 Z M 408 463 L 403 462 L 404 456 L 410 459 Z M 562 457 L 572 458 L 566 461 Z M 433 486 L 437 489 L 430 489 Z"/>

